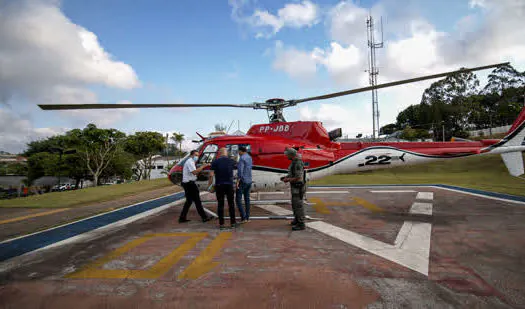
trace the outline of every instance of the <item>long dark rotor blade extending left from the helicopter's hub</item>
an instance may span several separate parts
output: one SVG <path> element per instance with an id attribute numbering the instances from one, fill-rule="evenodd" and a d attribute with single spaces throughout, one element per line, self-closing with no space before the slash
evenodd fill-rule
<path id="1" fill-rule="evenodd" d="M 38 104 L 43 110 L 70 109 L 119 109 L 119 108 L 163 108 L 163 107 L 242 107 L 254 108 L 253 104 Z"/>

